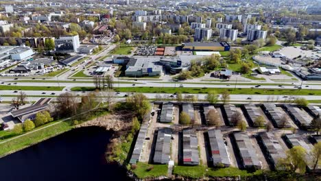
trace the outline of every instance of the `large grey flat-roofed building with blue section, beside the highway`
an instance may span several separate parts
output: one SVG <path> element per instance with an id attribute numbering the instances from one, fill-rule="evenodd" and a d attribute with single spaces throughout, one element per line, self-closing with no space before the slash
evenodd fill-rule
<path id="1" fill-rule="evenodd" d="M 163 72 L 163 66 L 156 62 L 148 58 L 130 59 L 126 65 L 125 75 L 128 77 L 159 76 Z"/>

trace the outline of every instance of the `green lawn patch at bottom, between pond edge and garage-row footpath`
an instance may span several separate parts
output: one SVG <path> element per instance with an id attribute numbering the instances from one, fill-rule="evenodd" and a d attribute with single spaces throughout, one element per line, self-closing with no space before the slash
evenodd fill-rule
<path id="1" fill-rule="evenodd" d="M 148 171 L 148 167 L 153 167 L 153 169 Z M 150 165 L 145 162 L 138 162 L 133 172 L 138 178 L 167 176 L 167 167 L 168 165 Z"/>

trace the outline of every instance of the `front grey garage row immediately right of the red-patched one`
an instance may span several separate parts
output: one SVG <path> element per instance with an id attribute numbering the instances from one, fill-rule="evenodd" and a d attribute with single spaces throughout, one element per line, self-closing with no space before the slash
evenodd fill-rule
<path id="1" fill-rule="evenodd" d="M 244 169 L 261 169 L 262 165 L 252 145 L 250 137 L 244 132 L 233 134 Z"/>

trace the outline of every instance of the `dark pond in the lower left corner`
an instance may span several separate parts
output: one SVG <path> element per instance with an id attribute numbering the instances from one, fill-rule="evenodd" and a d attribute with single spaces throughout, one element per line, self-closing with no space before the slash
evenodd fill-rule
<path id="1" fill-rule="evenodd" d="M 0 158 L 0 180 L 130 180 L 105 160 L 110 136 L 101 128 L 80 128 Z"/>

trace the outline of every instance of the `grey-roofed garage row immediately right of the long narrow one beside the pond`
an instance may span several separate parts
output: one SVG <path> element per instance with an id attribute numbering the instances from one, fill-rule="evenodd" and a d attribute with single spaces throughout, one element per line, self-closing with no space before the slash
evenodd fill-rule
<path id="1" fill-rule="evenodd" d="M 154 163 L 167 164 L 171 152 L 171 129 L 160 128 L 157 134 Z"/>

